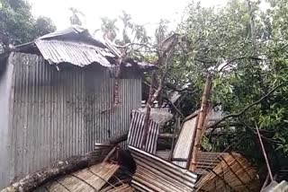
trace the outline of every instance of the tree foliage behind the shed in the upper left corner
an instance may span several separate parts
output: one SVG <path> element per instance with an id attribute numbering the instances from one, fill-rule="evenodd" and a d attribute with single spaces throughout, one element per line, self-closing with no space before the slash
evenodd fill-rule
<path id="1" fill-rule="evenodd" d="M 0 0 L 0 4 L 0 52 L 56 30 L 49 18 L 35 19 L 24 0 Z"/>

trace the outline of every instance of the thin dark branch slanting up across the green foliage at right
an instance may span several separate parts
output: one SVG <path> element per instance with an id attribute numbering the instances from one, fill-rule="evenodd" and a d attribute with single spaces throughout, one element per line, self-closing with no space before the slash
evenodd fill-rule
<path id="1" fill-rule="evenodd" d="M 253 106 L 257 105 L 258 103 L 260 103 L 262 100 L 265 100 L 267 97 L 269 97 L 273 92 L 275 92 L 278 88 L 282 87 L 284 85 L 284 83 L 281 83 L 279 85 L 277 85 L 273 90 L 271 90 L 270 92 L 268 92 L 266 95 L 264 95 L 263 97 L 261 97 L 259 100 L 251 103 L 250 105 L 248 105 L 247 107 L 245 107 L 244 109 L 242 109 L 240 112 L 238 113 L 233 113 L 233 114 L 229 114 L 227 116 L 224 116 L 223 118 L 220 118 L 218 121 L 216 121 L 215 123 L 213 123 L 210 127 L 216 127 L 218 124 L 220 124 L 220 122 L 222 122 L 223 120 L 225 120 L 226 118 L 237 118 L 238 116 L 243 115 L 243 113 L 245 113 L 247 111 L 247 109 L 252 108 Z"/>

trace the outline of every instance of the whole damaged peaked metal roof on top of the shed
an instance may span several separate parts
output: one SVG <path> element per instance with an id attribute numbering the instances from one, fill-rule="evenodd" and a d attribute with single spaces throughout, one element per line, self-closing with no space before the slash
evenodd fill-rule
<path id="1" fill-rule="evenodd" d="M 49 61 L 49 64 L 70 63 L 77 66 L 86 66 L 93 63 L 104 67 L 113 67 L 119 64 L 117 60 L 121 52 L 105 42 L 104 39 L 94 39 L 87 30 L 80 26 L 72 26 L 63 31 L 46 34 L 39 39 L 13 48 L 15 52 L 40 54 Z M 6 58 L 9 53 L 0 55 Z M 122 62 L 124 66 L 138 66 L 139 71 L 157 69 L 156 65 L 138 62 L 132 58 Z"/>

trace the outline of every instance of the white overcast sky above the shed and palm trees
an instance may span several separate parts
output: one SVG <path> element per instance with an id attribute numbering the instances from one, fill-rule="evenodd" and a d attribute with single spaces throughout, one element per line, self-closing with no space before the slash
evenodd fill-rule
<path id="1" fill-rule="evenodd" d="M 223 4 L 227 0 L 202 0 L 202 5 Z M 138 24 L 157 23 L 160 19 L 170 21 L 171 30 L 181 21 L 189 0 L 29 0 L 35 16 L 47 16 L 56 24 L 58 30 L 70 26 L 69 7 L 85 13 L 85 28 L 91 33 L 99 29 L 101 17 L 116 18 L 124 10 L 130 13 L 133 22 Z M 154 31 L 156 24 L 148 24 L 148 33 Z M 153 35 L 153 34 L 149 34 Z"/>

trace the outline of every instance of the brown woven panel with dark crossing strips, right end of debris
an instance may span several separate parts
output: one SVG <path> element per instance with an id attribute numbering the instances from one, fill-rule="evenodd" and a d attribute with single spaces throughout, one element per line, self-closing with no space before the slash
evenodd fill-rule
<path id="1" fill-rule="evenodd" d="M 238 153 L 220 155 L 220 163 L 196 183 L 198 191 L 259 191 L 257 170 Z"/>

